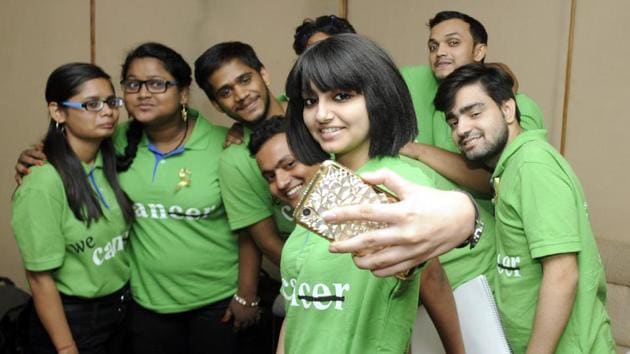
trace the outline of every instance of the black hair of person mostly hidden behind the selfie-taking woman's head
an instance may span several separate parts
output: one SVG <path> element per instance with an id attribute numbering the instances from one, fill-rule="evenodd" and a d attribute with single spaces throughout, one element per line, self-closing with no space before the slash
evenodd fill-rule
<path id="1" fill-rule="evenodd" d="M 319 16 L 315 20 L 307 18 L 295 29 L 295 34 L 293 35 L 293 50 L 295 54 L 300 55 L 304 53 L 309 38 L 317 32 L 331 36 L 341 33 L 357 33 L 350 22 L 343 17 L 324 15 Z"/>

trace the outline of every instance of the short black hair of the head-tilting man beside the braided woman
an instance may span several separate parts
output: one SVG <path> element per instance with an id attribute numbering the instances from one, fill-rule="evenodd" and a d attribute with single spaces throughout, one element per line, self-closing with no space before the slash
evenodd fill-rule
<path id="1" fill-rule="evenodd" d="M 208 81 L 223 64 L 234 59 L 260 72 L 264 67 L 254 48 L 242 42 L 223 42 L 208 48 L 195 60 L 195 81 L 211 101 L 216 102 L 214 89 Z"/>

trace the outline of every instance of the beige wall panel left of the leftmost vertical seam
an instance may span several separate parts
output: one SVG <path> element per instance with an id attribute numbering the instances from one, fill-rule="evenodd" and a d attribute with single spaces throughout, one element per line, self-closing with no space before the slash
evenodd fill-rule
<path id="1" fill-rule="evenodd" d="M 48 127 L 48 74 L 65 62 L 90 59 L 89 25 L 89 2 L 84 0 L 63 6 L 52 1 L 0 3 L 0 274 L 19 284 L 24 283 L 22 264 L 10 227 L 13 166 L 18 152 Z"/>

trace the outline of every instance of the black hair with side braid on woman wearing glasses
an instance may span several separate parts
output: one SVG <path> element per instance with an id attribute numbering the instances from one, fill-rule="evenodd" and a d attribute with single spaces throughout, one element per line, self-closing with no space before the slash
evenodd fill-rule
<path id="1" fill-rule="evenodd" d="M 120 77 L 125 80 L 131 63 L 136 59 L 142 58 L 154 58 L 159 60 L 162 65 L 164 65 L 164 69 L 175 78 L 178 88 L 190 87 L 190 83 L 192 82 L 192 70 L 190 69 L 190 65 L 188 65 L 186 60 L 175 50 L 164 44 L 155 42 L 146 42 L 131 50 L 122 65 Z M 125 147 L 124 154 L 118 156 L 119 171 L 126 171 L 129 169 L 129 166 L 131 166 L 138 152 L 138 144 L 140 143 L 140 139 L 142 139 L 143 131 L 144 125 L 132 119 L 129 123 L 129 129 L 127 130 L 127 146 Z"/>

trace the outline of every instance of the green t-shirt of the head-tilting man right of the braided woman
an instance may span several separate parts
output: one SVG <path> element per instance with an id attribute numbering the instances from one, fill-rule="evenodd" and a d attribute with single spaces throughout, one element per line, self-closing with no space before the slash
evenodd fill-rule
<path id="1" fill-rule="evenodd" d="M 295 228 L 291 207 L 271 196 L 256 159 L 247 145 L 251 130 L 243 129 L 243 143 L 232 144 L 221 153 L 221 193 L 232 230 L 239 230 L 273 216 L 280 235 L 286 238 Z"/>

